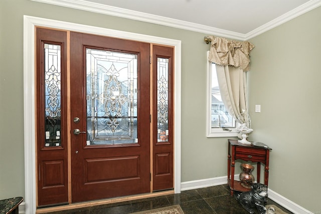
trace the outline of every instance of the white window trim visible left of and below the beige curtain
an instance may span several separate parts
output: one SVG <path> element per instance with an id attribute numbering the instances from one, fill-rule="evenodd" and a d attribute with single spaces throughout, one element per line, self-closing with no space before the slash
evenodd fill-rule
<path id="1" fill-rule="evenodd" d="M 207 58 L 209 51 L 207 52 Z M 238 131 L 236 128 L 212 128 L 211 124 L 211 104 L 212 104 L 212 63 L 207 60 L 207 82 L 206 82 L 206 137 L 237 137 Z M 236 122 L 236 127 L 238 123 Z"/>

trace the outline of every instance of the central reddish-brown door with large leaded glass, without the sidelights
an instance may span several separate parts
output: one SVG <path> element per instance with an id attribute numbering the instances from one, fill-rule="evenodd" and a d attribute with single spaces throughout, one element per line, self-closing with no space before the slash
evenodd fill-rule
<path id="1" fill-rule="evenodd" d="M 150 192 L 149 49 L 70 33 L 73 202 Z"/>

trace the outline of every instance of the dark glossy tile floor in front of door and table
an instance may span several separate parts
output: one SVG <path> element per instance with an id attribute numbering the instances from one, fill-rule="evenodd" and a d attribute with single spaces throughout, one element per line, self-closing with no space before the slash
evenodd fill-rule
<path id="1" fill-rule="evenodd" d="M 248 212 L 231 197 L 227 185 L 186 190 L 151 198 L 131 200 L 79 209 L 50 212 L 50 214 L 122 214 L 180 204 L 185 214 L 247 214 Z M 275 204 L 287 213 L 292 213 L 268 198 L 267 204 Z"/>

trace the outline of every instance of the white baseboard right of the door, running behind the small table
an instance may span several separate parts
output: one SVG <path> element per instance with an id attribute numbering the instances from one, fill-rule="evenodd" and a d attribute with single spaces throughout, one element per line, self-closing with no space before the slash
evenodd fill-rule
<path id="1" fill-rule="evenodd" d="M 235 180 L 237 180 L 239 175 L 235 175 Z M 209 186 L 217 186 L 227 184 L 227 176 L 222 177 L 214 177 L 214 178 L 207 178 L 207 179 L 201 179 L 201 180 L 192 180 L 192 181 L 186 181 L 181 183 L 181 190 L 190 190 L 190 189 L 198 189 L 198 188 L 204 188 Z M 312 214 L 311 211 L 308 211 L 307 209 L 303 208 L 302 206 L 294 203 L 293 201 L 283 197 L 282 195 L 276 193 L 275 191 L 268 189 L 268 197 L 283 206 L 284 208 L 287 208 L 293 213 L 297 214 Z"/>

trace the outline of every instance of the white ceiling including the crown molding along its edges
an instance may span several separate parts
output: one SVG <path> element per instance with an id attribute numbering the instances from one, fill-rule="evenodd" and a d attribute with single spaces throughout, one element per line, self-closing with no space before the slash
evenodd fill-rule
<path id="1" fill-rule="evenodd" d="M 321 0 L 32 0 L 186 30 L 248 39 Z"/>

